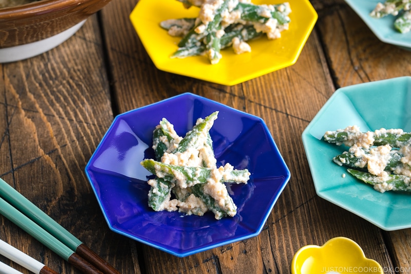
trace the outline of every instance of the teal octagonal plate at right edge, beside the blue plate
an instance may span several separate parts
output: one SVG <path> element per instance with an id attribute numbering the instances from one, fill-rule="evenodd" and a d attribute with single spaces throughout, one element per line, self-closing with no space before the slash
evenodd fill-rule
<path id="1" fill-rule="evenodd" d="M 302 138 L 317 194 L 384 230 L 411 227 L 411 195 L 380 193 L 332 161 L 345 147 L 321 138 L 327 130 L 358 125 L 362 131 L 411 132 L 411 77 L 338 89 L 304 130 Z M 343 174 L 347 174 L 343 178 Z"/>

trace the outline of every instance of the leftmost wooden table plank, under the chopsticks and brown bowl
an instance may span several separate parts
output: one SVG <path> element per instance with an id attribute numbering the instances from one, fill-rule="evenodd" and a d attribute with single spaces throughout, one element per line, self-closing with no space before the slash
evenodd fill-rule
<path id="1" fill-rule="evenodd" d="M 113 119 L 99 34 L 93 15 L 57 48 L 1 65 L 0 174 L 110 264 L 139 273 L 129 241 L 108 229 L 84 172 Z M 1 222 L 2 240 L 62 274 L 80 272 Z"/>

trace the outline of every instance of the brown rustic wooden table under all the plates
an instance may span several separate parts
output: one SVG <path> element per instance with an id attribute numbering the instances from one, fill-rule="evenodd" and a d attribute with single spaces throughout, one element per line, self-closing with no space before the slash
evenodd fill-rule
<path id="1" fill-rule="evenodd" d="M 62 45 L 0 65 L 0 177 L 124 274 L 289 273 L 298 249 L 336 236 L 386 273 L 410 273 L 411 230 L 383 231 L 317 196 L 301 134 L 337 88 L 409 76 L 411 52 L 380 42 L 343 0 L 311 2 L 319 20 L 296 64 L 223 86 L 158 70 L 128 19 L 137 0 L 111 1 Z M 177 258 L 109 230 L 84 168 L 115 115 L 185 92 L 263 118 L 291 179 L 260 235 Z M 0 221 L 2 240 L 80 273 Z"/>

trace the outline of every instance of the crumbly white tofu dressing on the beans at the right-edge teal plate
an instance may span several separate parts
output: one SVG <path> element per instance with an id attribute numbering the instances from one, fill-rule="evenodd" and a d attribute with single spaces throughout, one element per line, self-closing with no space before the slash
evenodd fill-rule
<path id="1" fill-rule="evenodd" d="M 338 132 L 347 132 L 349 133 L 348 140 L 344 141 L 343 143 L 347 145 L 349 148 L 349 152 L 353 153 L 356 157 L 361 157 L 362 161 L 360 161 L 357 166 L 359 168 L 367 168 L 368 172 L 372 175 L 376 175 L 377 177 L 372 177 L 372 181 L 377 182 L 374 186 L 374 189 L 379 192 L 385 192 L 388 190 L 393 189 L 393 185 L 387 184 L 387 180 L 389 179 L 390 171 L 385 171 L 385 167 L 390 159 L 390 151 L 393 149 L 389 144 L 380 145 L 378 147 L 372 147 L 372 143 L 375 141 L 376 135 L 384 135 L 387 133 L 401 135 L 404 133 L 402 129 L 380 129 L 374 132 L 365 132 L 362 133 L 357 125 L 348 126 L 343 130 L 337 130 Z M 330 135 L 331 132 L 326 132 L 325 135 Z M 341 145 L 342 143 L 337 143 Z M 397 166 L 394 170 L 392 170 L 393 174 L 397 175 L 406 175 L 411 176 L 411 143 L 406 145 L 398 145 L 399 150 L 398 152 L 403 155 L 401 157 L 401 162 L 403 165 Z M 364 149 L 369 149 L 368 153 L 365 153 Z M 342 163 L 345 159 L 339 159 Z M 405 184 L 409 185 L 410 178 L 405 179 Z"/>

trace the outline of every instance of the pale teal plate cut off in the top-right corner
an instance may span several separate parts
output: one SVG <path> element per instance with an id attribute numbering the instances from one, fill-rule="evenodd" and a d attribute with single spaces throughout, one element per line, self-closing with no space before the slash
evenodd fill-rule
<path id="1" fill-rule="evenodd" d="M 404 47 L 411 50 L 411 32 L 400 33 L 394 28 L 395 17 L 392 15 L 380 19 L 369 13 L 382 0 L 345 0 L 345 2 L 361 17 L 371 31 L 384 43 Z"/>

